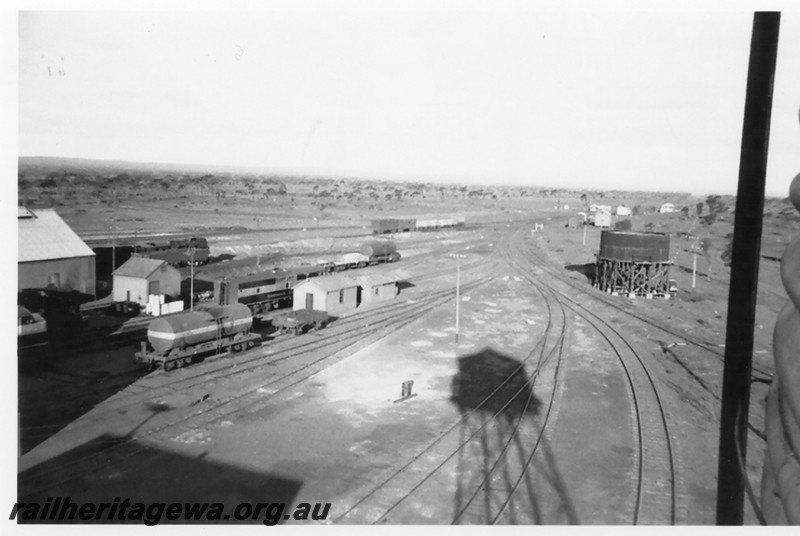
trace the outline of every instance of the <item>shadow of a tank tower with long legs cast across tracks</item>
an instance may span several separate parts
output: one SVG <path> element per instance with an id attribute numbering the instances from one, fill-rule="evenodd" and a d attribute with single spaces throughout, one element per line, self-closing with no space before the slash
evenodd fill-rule
<path id="1" fill-rule="evenodd" d="M 450 400 L 462 414 L 457 524 L 577 524 L 542 434 L 543 405 L 522 362 L 492 348 L 460 357 Z M 524 468 L 524 469 L 523 469 Z"/>

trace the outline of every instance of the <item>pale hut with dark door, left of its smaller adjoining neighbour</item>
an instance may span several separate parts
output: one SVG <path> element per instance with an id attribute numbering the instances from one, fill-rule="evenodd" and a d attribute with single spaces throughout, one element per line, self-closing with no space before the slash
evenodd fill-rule
<path id="1" fill-rule="evenodd" d="M 295 311 L 312 309 L 335 315 L 353 311 L 360 303 L 358 283 L 341 275 L 306 279 L 295 285 L 292 292 Z"/>

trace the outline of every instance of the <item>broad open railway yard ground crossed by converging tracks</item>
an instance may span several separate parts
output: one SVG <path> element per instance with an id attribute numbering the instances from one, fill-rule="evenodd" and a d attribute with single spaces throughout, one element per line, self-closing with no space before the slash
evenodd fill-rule
<path id="1" fill-rule="evenodd" d="M 85 337 L 20 361 L 18 500 L 320 502 L 330 511 L 317 522 L 334 524 L 713 524 L 729 269 L 703 257 L 692 290 L 697 259 L 673 238 L 672 296 L 612 295 L 587 275 L 601 231 L 570 228 L 552 201 L 460 208 L 458 225 L 377 237 L 346 215 L 255 225 L 251 207 L 198 232 L 168 221 L 166 205 L 116 210 L 120 221 L 147 217 L 123 223 L 123 238 L 165 226 L 202 233 L 215 262 L 180 273 L 205 273 L 211 288 L 236 267 L 250 278 L 239 296 L 261 292 L 267 266 L 320 266 L 390 239 L 399 255 L 376 263 L 370 250 L 341 274 L 392 274 L 396 295 L 298 336 L 263 327 L 286 305 L 270 297 L 247 324 L 261 344 L 180 354 L 185 362 L 155 370 L 134 362 L 150 318 L 87 309 Z M 108 243 L 97 214 L 64 217 L 94 246 Z M 678 214 L 643 218 L 673 237 L 692 231 Z M 716 225 L 724 236 L 730 221 Z M 270 284 L 282 284 L 275 273 Z M 332 276 L 292 277 L 283 288 Z M 763 258 L 760 277 L 755 493 L 771 334 L 786 299 L 777 262 Z M 745 519 L 756 523 L 749 503 Z"/>

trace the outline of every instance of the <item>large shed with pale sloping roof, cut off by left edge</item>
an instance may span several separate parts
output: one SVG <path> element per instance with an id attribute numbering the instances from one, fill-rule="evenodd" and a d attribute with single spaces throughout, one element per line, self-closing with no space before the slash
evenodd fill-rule
<path id="1" fill-rule="evenodd" d="M 95 295 L 95 254 L 52 209 L 17 210 L 17 290 Z"/>

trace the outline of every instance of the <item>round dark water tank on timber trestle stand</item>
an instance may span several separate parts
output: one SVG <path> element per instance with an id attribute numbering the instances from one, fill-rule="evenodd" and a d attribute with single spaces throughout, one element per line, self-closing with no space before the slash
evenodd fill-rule
<path id="1" fill-rule="evenodd" d="M 669 279 L 671 265 L 669 235 L 603 231 L 595 286 L 629 297 L 669 298 L 674 292 Z"/>

